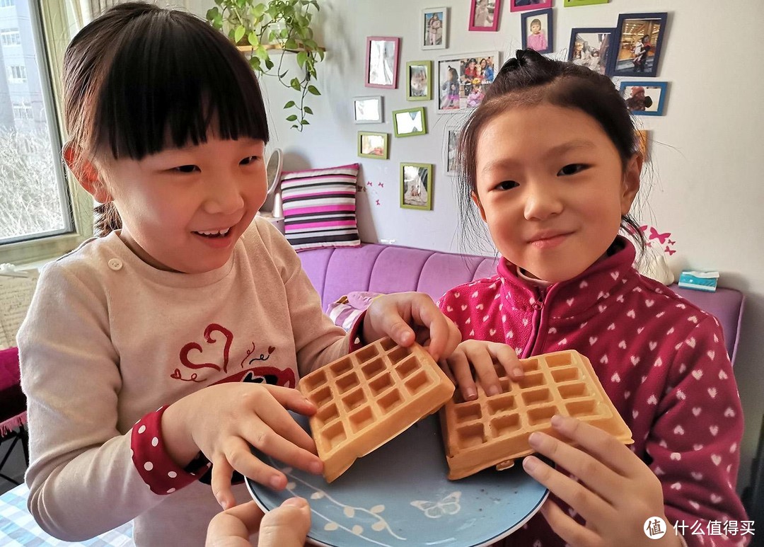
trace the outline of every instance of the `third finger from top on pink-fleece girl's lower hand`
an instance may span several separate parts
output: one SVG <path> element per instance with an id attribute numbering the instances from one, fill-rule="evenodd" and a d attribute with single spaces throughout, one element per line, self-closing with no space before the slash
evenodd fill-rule
<path id="1" fill-rule="evenodd" d="M 585 520 L 598 523 L 602 522 L 604 518 L 613 519 L 617 517 L 617 513 L 609 503 L 588 490 L 583 484 L 579 484 L 571 477 L 560 473 L 536 456 L 523 458 L 523 469 L 536 481 L 549 488 L 552 494 L 568 503 Z M 621 494 L 623 495 L 623 493 Z"/>

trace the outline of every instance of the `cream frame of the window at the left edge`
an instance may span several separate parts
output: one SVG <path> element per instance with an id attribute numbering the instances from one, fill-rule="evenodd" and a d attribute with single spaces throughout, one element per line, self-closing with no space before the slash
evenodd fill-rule
<path id="1" fill-rule="evenodd" d="M 0 2 L 7 1 L 0 0 Z M 50 72 L 49 77 L 46 74 L 42 77 L 47 80 L 47 85 L 53 89 L 53 100 L 50 100 L 48 94 L 45 98 L 46 108 L 50 109 L 49 112 L 55 112 L 58 122 L 50 127 L 50 134 L 51 137 L 55 138 L 54 141 L 61 143 L 66 142 L 60 108 L 60 105 L 63 104 L 61 66 L 63 66 L 63 52 L 66 50 L 70 36 L 69 28 L 67 28 L 68 18 L 65 2 L 66 0 L 44 0 L 44 2 L 31 0 L 30 2 L 30 15 L 42 21 L 42 25 L 35 26 L 36 31 L 40 34 L 35 43 L 38 44 L 37 55 L 39 59 L 43 63 L 47 62 Z M 5 5 L 0 4 L 0 7 L 5 7 Z M 44 46 L 39 44 L 44 44 Z M 45 49 L 42 50 L 41 47 Z M 79 186 L 70 171 L 66 171 L 64 179 L 66 188 L 61 188 L 61 191 L 68 192 L 69 206 L 73 212 L 73 229 L 63 234 L 40 235 L 35 239 L 0 244 L 0 263 L 34 264 L 48 261 L 71 251 L 86 238 L 92 236 L 92 197 Z"/>

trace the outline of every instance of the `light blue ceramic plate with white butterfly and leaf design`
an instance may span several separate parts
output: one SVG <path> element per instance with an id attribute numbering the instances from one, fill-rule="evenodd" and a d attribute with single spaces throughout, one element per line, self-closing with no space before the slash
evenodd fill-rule
<path id="1" fill-rule="evenodd" d="M 308 430 L 306 418 L 295 418 Z M 288 478 L 280 492 L 247 479 L 257 504 L 269 511 L 289 497 L 306 498 L 308 537 L 329 547 L 490 545 L 523 526 L 548 495 L 520 462 L 449 481 L 437 415 L 358 458 L 332 484 L 255 453 Z"/>

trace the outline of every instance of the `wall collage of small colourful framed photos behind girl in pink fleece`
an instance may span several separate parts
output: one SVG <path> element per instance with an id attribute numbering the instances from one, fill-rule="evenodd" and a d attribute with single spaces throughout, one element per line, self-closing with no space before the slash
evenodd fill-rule
<path id="1" fill-rule="evenodd" d="M 597 18 L 597 8 L 587 8 L 594 24 L 571 29 L 565 42 L 555 37 L 555 8 L 578 8 L 607 4 L 610 0 L 468 0 L 468 21 L 455 21 L 450 8 L 422 9 L 419 15 L 418 47 L 422 51 L 447 50 L 452 31 L 510 32 L 519 38 L 523 49 L 549 54 L 555 59 L 565 50 L 567 60 L 594 72 L 617 78 L 618 89 L 633 115 L 662 116 L 669 83 L 656 81 L 664 47 L 663 37 L 667 12 L 622 13 L 614 27 Z M 555 3 L 557 6 L 555 6 Z M 516 13 L 519 25 L 514 31 L 501 29 L 503 12 Z M 507 17 L 504 17 L 507 19 Z M 602 23 L 605 23 L 603 25 Z M 506 24 L 505 24 L 506 26 Z M 518 34 L 514 34 L 514 33 Z M 462 37 L 462 36 L 460 36 Z M 462 40 L 459 40 L 462 41 Z M 506 41 L 506 40 L 505 40 Z M 445 174 L 458 174 L 458 135 L 465 115 L 477 108 L 502 66 L 498 50 L 456 51 L 441 53 L 435 58 L 406 60 L 400 63 L 401 37 L 371 36 L 366 40 L 365 83 L 367 87 L 398 89 L 399 73 L 406 101 L 415 102 L 410 108 L 391 111 L 393 137 L 415 137 L 428 134 L 428 111 L 435 115 L 453 115 L 443 129 Z M 561 47 L 562 46 L 562 47 Z M 434 101 L 434 105 L 432 104 Z M 419 102 L 419 104 L 416 104 Z M 429 104 L 428 104 L 429 103 Z M 354 97 L 353 118 L 358 124 L 384 124 L 382 95 Z M 639 144 L 648 154 L 649 129 L 639 129 Z M 370 159 L 390 158 L 387 132 L 359 131 L 358 156 Z M 408 209 L 432 210 L 435 186 L 434 163 L 422 163 L 421 158 L 400 163 L 400 206 Z"/>

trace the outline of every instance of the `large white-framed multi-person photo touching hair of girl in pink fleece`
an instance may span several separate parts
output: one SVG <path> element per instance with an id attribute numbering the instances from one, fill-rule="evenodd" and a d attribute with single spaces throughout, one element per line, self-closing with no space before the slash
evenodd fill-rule
<path id="1" fill-rule="evenodd" d="M 487 86 L 501 69 L 501 59 L 498 51 L 455 53 L 440 57 L 436 68 L 435 112 L 454 114 L 482 102 Z"/>

